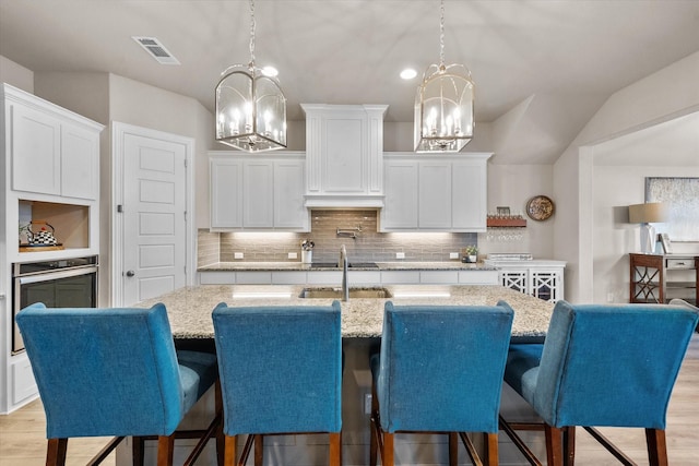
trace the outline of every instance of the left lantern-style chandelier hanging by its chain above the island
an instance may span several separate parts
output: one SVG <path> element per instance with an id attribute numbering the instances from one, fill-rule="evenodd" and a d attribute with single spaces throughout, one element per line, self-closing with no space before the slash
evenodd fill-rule
<path id="1" fill-rule="evenodd" d="M 234 64 L 216 86 L 216 141 L 247 152 L 286 147 L 286 97 L 279 81 L 254 65 L 254 2 L 250 62 Z"/>

